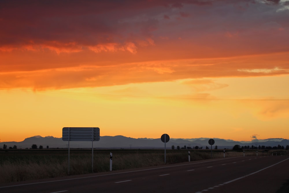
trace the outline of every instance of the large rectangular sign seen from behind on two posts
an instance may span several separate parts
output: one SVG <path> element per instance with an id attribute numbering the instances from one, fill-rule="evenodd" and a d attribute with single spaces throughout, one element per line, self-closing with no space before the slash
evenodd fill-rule
<path id="1" fill-rule="evenodd" d="M 99 141 L 98 127 L 64 127 L 62 128 L 63 141 Z"/>

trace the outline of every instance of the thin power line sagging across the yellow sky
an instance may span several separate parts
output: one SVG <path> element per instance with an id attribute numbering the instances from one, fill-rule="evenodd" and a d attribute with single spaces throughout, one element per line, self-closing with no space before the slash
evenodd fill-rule
<path id="1" fill-rule="evenodd" d="M 43 91 L 31 89 L 16 89 L 11 87 L 0 87 L 1 90 L 11 91 L 25 91 L 38 92 L 48 94 L 62 94 L 62 95 L 80 95 L 80 96 L 98 96 L 98 97 L 112 97 L 112 98 L 140 98 L 140 99 L 166 99 L 166 100 L 194 100 L 194 101 L 289 101 L 289 99 L 233 99 L 233 98 L 184 98 L 184 97 L 158 97 L 158 96 L 129 96 L 129 95 L 110 95 L 110 94 L 93 94 L 93 93 L 74 93 L 65 91 Z"/>

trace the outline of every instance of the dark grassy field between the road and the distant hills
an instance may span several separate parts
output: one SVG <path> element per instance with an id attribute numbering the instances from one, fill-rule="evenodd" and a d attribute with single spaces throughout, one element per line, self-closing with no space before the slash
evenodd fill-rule
<path id="1" fill-rule="evenodd" d="M 112 169 L 123 170 L 164 165 L 164 150 L 94 150 L 94 172 L 109 171 L 110 152 L 113 154 Z M 288 151 L 273 151 L 287 155 Z M 258 156 L 272 156 L 272 151 L 258 151 Z M 243 156 L 243 151 L 226 150 L 226 157 Z M 256 156 L 256 150 L 245 151 L 245 156 Z M 213 150 L 212 158 L 224 157 L 223 150 Z M 211 150 L 190 150 L 190 160 L 211 158 Z M 92 172 L 92 150 L 70 150 L 70 175 Z M 166 150 L 166 163 L 188 161 L 188 150 Z M 0 184 L 32 179 L 44 179 L 68 175 L 67 149 L 9 149 L 0 150 Z"/>

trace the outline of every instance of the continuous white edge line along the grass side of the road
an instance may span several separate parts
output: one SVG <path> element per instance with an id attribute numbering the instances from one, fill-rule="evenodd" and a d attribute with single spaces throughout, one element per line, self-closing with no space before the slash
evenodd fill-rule
<path id="1" fill-rule="evenodd" d="M 220 161 L 220 160 L 232 159 L 232 158 L 238 158 L 238 157 L 221 158 L 221 159 L 215 159 L 215 160 L 210 160 L 210 161 L 202 161 L 202 162 L 198 162 L 198 163 L 207 163 L 207 162 L 211 162 L 211 161 Z M 18 184 L 18 185 L 11 185 L 11 186 L 2 186 L 2 187 L 0 187 L 0 188 L 8 188 L 8 187 L 23 186 L 23 185 L 32 185 L 32 184 L 42 184 L 42 183 L 49 183 L 49 182 L 60 182 L 60 181 L 68 181 L 68 180 L 78 180 L 78 179 L 94 178 L 94 177 L 100 177 L 100 176 L 110 176 L 110 175 L 125 174 L 125 173 L 131 173 L 131 172 L 141 172 L 141 171 L 155 170 L 155 169 L 162 169 L 162 168 L 172 168 L 172 167 L 178 167 L 178 166 L 187 166 L 187 165 L 198 164 L 198 163 L 187 163 L 187 164 L 182 164 L 182 165 L 177 165 L 177 166 L 165 166 L 165 167 L 160 167 L 160 168 L 149 168 L 149 169 L 144 169 L 144 170 L 134 170 L 134 171 L 129 171 L 129 172 L 119 172 L 119 173 L 113 173 L 113 174 L 103 174 L 103 175 L 87 176 L 87 177 L 81 177 L 81 178 L 71 178 L 71 179 L 53 180 L 53 181 L 46 181 L 46 182 L 35 182 L 35 183 L 28 183 L 28 184 Z"/>

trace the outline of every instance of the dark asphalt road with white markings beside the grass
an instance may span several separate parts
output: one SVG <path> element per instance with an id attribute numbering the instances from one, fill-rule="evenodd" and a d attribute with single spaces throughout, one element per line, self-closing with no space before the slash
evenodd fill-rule
<path id="1" fill-rule="evenodd" d="M 235 157 L 0 185 L 0 192 L 277 192 L 288 156 Z"/>

